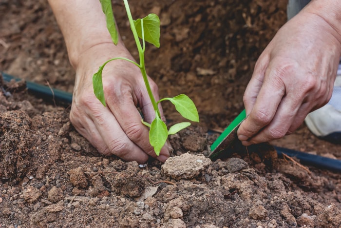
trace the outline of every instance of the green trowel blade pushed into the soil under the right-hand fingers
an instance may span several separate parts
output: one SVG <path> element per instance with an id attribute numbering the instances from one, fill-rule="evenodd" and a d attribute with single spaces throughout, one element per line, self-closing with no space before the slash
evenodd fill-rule
<path id="1" fill-rule="evenodd" d="M 246 111 L 245 109 L 227 126 L 224 132 L 214 141 L 211 145 L 211 152 L 209 158 L 215 158 L 224 151 L 231 148 L 235 141 L 238 141 L 237 129 L 239 125 L 245 120 Z"/>

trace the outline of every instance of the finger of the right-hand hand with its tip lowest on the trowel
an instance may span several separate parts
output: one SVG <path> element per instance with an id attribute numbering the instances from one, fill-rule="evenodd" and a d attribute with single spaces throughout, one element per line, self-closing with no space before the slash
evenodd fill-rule
<path id="1" fill-rule="evenodd" d="M 276 77 L 277 73 L 268 69 L 265 74 L 273 74 L 274 76 L 265 77 L 256 103 L 238 129 L 238 138 L 242 142 L 255 136 L 272 121 L 285 94 L 285 85 L 280 77 Z"/>

